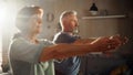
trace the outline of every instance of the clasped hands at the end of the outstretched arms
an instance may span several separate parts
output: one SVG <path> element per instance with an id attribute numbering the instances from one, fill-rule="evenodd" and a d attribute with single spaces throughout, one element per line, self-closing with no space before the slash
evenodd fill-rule
<path id="1" fill-rule="evenodd" d="M 104 52 L 110 50 L 115 50 L 119 46 L 125 44 L 127 42 L 126 38 L 122 38 L 120 35 L 114 36 L 104 36 L 98 38 L 91 44 L 93 44 L 98 51 Z"/>

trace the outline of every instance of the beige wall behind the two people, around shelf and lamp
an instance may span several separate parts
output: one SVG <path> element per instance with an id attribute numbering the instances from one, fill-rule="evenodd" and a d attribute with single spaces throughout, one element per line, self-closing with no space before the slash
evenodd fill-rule
<path id="1" fill-rule="evenodd" d="M 123 14 L 120 0 L 96 0 L 99 13 L 108 10 L 108 14 Z M 82 20 L 82 17 L 90 15 L 89 9 L 92 0 L 41 0 L 40 4 L 44 9 L 43 31 L 41 38 L 52 40 L 57 32 L 59 17 L 64 10 L 75 10 L 79 14 L 80 35 L 82 38 L 113 35 L 117 33 L 117 19 Z M 47 14 L 53 13 L 54 21 L 48 22 Z M 103 30 L 104 29 L 104 30 Z M 47 32 L 47 33 L 45 33 Z M 99 33 L 98 33 L 99 32 Z"/>

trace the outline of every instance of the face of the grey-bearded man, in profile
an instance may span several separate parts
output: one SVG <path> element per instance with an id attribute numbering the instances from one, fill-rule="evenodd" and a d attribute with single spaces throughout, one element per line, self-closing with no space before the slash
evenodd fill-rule
<path id="1" fill-rule="evenodd" d="M 64 29 L 68 32 L 73 32 L 73 30 L 78 26 L 78 18 L 74 14 L 68 15 L 64 21 Z"/>

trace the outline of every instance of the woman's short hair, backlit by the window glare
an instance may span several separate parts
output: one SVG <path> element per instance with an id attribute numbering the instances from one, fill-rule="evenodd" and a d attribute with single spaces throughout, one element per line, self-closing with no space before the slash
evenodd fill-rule
<path id="1" fill-rule="evenodd" d="M 25 6 L 23 7 L 17 15 L 16 19 L 16 26 L 20 30 L 20 31 L 25 31 L 27 29 L 27 21 L 33 15 L 33 14 L 38 14 L 41 13 L 43 14 L 43 10 L 40 7 L 37 6 Z"/>

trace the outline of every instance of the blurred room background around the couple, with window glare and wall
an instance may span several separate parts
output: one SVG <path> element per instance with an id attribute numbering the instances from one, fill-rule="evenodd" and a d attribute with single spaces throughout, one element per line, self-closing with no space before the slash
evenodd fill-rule
<path id="1" fill-rule="evenodd" d="M 96 13 L 90 12 L 92 3 Z M 59 17 L 65 10 L 78 11 L 78 34 L 83 38 L 98 38 L 120 34 L 129 42 L 109 53 L 93 53 L 82 56 L 81 75 L 117 75 L 133 69 L 133 8 L 132 0 L 0 0 L 0 72 L 9 71 L 8 47 L 14 28 L 17 12 L 24 6 L 40 6 L 44 10 L 42 32 L 39 38 L 52 41 L 60 31 Z M 131 74 L 132 75 L 132 74 Z"/>

